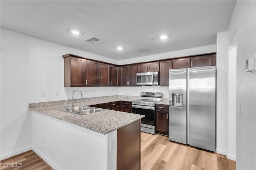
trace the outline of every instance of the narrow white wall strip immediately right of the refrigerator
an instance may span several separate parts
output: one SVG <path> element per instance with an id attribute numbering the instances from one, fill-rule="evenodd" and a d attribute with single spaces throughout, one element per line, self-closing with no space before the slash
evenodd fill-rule
<path id="1" fill-rule="evenodd" d="M 216 43 L 216 152 L 227 154 L 228 42 L 227 33 L 217 33 Z"/>

